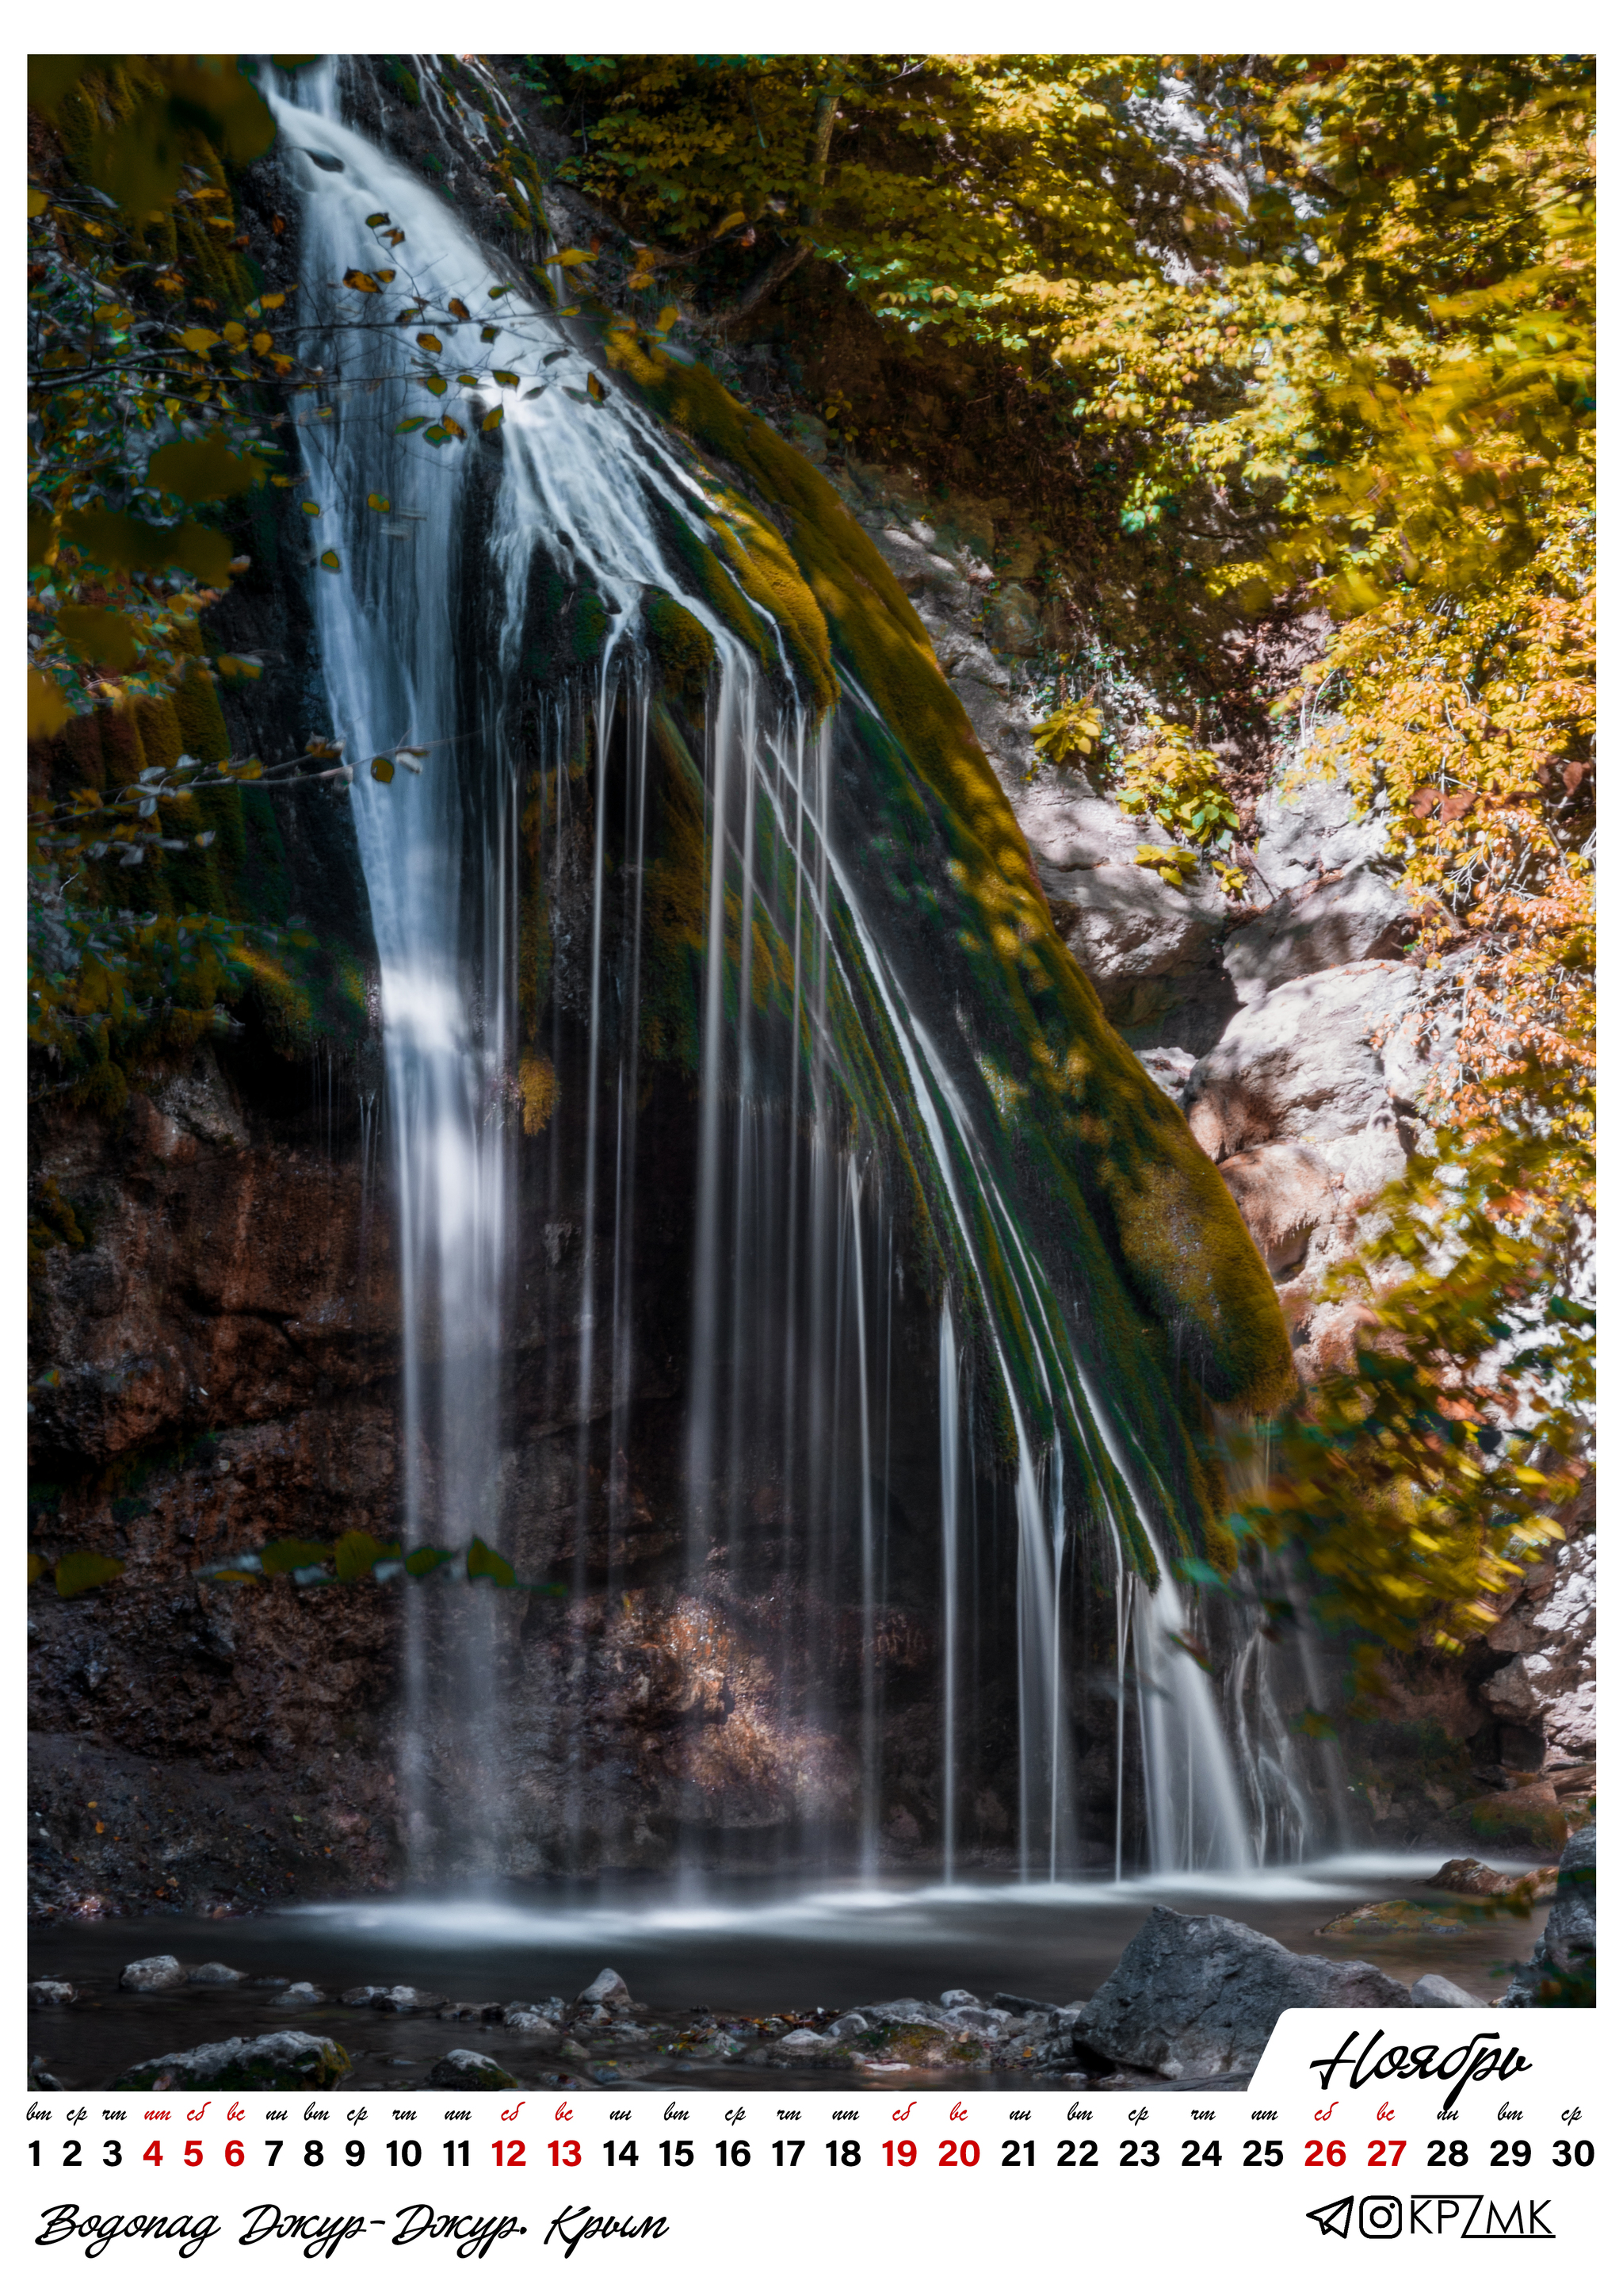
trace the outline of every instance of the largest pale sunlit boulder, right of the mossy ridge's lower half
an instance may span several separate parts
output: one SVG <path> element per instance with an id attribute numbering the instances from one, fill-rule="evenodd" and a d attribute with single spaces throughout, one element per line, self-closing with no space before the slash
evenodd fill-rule
<path id="1" fill-rule="evenodd" d="M 1263 1141 L 1327 1146 L 1380 1127 L 1400 1171 L 1389 1072 L 1403 1065 L 1403 1029 L 1419 994 L 1421 974 L 1387 960 L 1288 980 L 1237 1013 L 1196 1065 L 1189 1130 L 1221 1164 Z"/>

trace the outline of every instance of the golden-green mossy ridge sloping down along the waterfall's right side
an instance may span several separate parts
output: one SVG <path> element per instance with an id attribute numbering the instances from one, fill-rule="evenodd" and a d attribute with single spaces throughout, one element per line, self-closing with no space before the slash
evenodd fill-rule
<path id="1" fill-rule="evenodd" d="M 1017 1120 L 1022 1153 L 1051 1164 L 1054 1187 L 1086 1208 L 1132 1300 L 1166 1332 L 1201 1391 L 1233 1410 L 1279 1407 L 1295 1389 L 1295 1366 L 1267 1267 L 1214 1164 L 1109 1026 L 1054 930 L 1008 797 L 891 567 L 813 464 L 705 367 L 677 365 L 624 333 L 608 356 L 659 413 L 785 517 L 787 551 L 831 659 L 849 666 L 882 712 L 888 742 L 863 719 L 865 746 L 900 753 L 934 801 L 953 879 L 934 889 L 941 930 L 957 925 L 989 1026 L 1008 1038 L 1008 1058 L 983 1063 L 983 1075 L 996 1070 L 1005 1130 Z M 748 540 L 758 530 L 769 530 L 760 517 Z M 741 535 L 737 521 L 735 540 Z M 893 875 L 898 895 L 916 902 L 921 886 L 909 884 L 904 850 Z M 1104 1311 L 1120 1320 L 1118 1300 Z M 1207 1513 L 1203 1492 L 1194 1508 Z"/>

